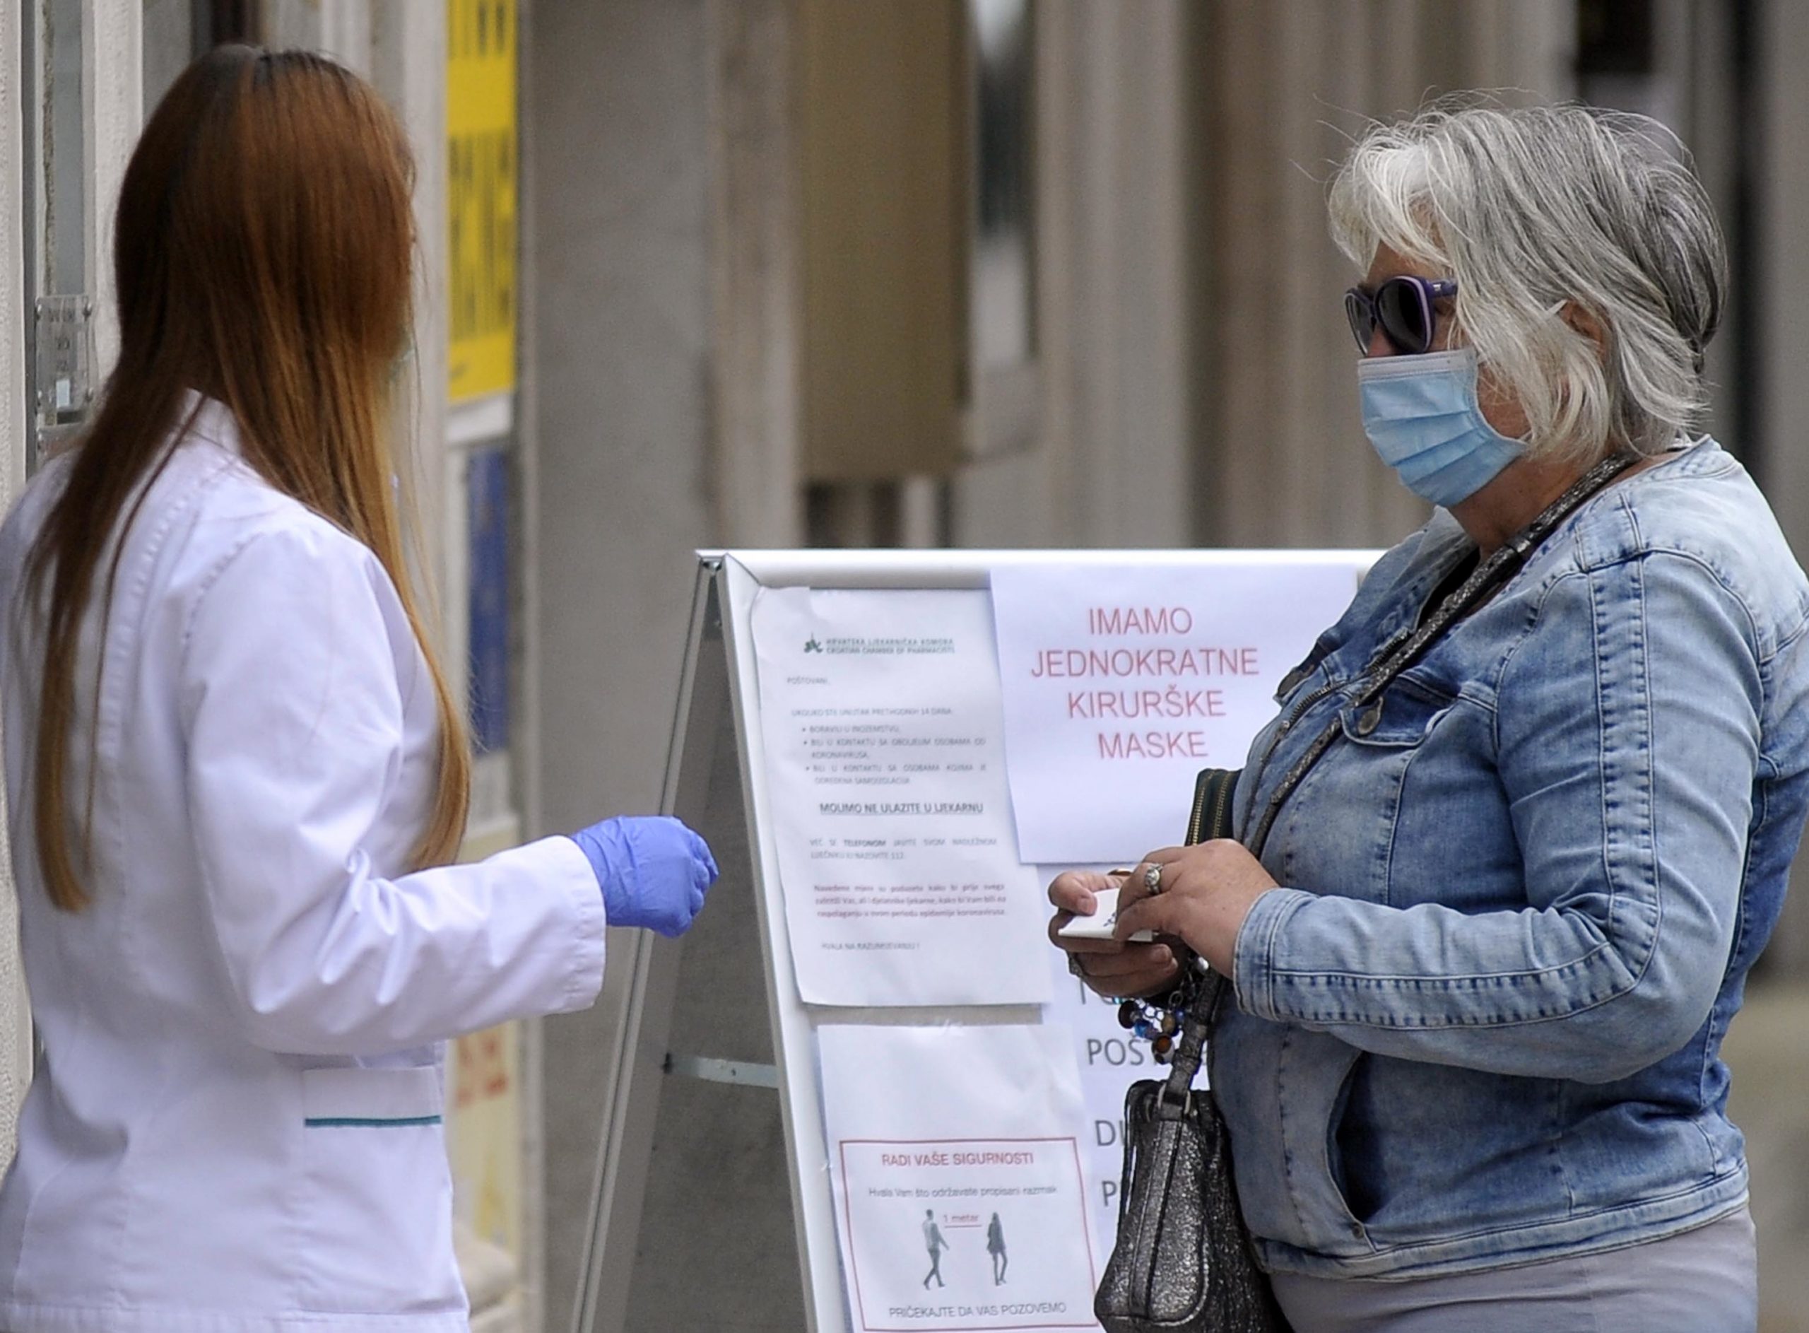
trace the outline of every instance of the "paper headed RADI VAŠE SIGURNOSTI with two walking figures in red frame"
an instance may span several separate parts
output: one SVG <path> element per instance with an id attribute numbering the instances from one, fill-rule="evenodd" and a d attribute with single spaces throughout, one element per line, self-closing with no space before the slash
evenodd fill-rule
<path id="1" fill-rule="evenodd" d="M 1096 1329 L 1073 1036 L 818 1029 L 857 1333 Z"/>

